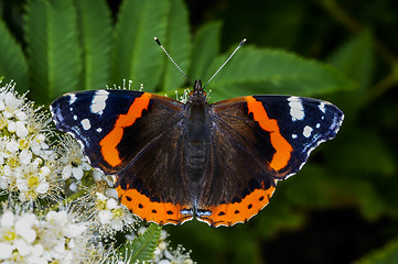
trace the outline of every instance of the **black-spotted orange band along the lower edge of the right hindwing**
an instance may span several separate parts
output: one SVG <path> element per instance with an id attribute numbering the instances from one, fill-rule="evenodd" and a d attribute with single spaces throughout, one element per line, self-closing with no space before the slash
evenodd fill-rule
<path id="1" fill-rule="evenodd" d="M 275 184 L 276 183 L 275 180 Z M 238 202 L 222 204 L 219 206 L 205 208 L 205 210 L 211 211 L 212 215 L 197 218 L 212 227 L 230 227 L 238 222 L 246 222 L 268 205 L 275 189 L 275 186 L 268 189 L 255 189 Z"/>

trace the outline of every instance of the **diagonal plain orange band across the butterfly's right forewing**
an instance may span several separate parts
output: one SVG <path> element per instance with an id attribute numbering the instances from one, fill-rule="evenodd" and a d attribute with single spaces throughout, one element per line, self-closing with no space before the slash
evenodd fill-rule
<path id="1" fill-rule="evenodd" d="M 254 97 L 246 97 L 246 101 L 249 113 L 252 113 L 255 121 L 258 122 L 262 130 L 270 132 L 271 144 L 275 147 L 276 153 L 273 154 L 269 166 L 275 170 L 283 168 L 288 165 L 291 152 L 293 151 L 292 146 L 281 135 L 278 121 L 268 117 L 262 102 L 257 101 Z"/>

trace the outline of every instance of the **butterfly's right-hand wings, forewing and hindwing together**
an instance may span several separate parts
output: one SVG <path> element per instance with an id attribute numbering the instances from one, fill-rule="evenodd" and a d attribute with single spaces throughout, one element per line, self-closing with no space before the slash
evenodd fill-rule
<path id="1" fill-rule="evenodd" d="M 250 96 L 212 105 L 211 162 L 198 198 L 198 220 L 245 222 L 295 174 L 310 152 L 337 133 L 343 113 L 315 99 Z"/>

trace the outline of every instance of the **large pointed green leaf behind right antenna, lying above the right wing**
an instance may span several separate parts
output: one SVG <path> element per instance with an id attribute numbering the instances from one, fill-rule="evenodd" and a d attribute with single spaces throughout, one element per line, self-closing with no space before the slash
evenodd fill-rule
<path id="1" fill-rule="evenodd" d="M 225 62 L 220 56 L 213 73 Z M 314 96 L 351 89 L 353 82 L 332 66 L 292 53 L 245 46 L 211 82 L 213 100 L 252 94 Z"/>

